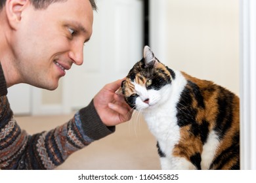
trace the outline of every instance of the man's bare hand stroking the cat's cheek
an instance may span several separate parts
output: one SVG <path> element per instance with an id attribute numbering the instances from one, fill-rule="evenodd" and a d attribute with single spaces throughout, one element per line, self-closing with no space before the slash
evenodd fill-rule
<path id="1" fill-rule="evenodd" d="M 116 82 L 106 84 L 93 99 L 100 119 L 107 126 L 127 122 L 131 119 L 133 113 L 131 107 L 123 99 L 123 96 L 115 93 L 121 86 L 121 82 L 122 80 L 117 80 Z"/>

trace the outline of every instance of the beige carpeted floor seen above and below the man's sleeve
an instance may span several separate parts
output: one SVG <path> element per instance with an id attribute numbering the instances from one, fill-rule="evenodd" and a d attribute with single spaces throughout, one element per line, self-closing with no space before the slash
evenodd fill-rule
<path id="1" fill-rule="evenodd" d="M 61 116 L 16 116 L 22 129 L 38 133 L 68 122 L 73 114 Z M 157 170 L 160 162 L 156 139 L 144 120 L 116 126 L 116 132 L 72 154 L 56 169 Z"/>

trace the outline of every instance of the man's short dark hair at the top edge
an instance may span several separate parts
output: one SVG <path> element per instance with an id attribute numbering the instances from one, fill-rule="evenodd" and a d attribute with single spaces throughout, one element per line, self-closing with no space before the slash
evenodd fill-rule
<path id="1" fill-rule="evenodd" d="M 47 8 L 51 3 L 61 2 L 61 1 L 67 1 L 67 0 L 30 0 L 32 5 L 36 9 L 44 9 Z M 97 10 L 95 0 L 89 0 L 91 3 L 91 6 L 93 7 L 93 10 Z M 0 11 L 5 6 L 6 0 L 0 0 Z"/>

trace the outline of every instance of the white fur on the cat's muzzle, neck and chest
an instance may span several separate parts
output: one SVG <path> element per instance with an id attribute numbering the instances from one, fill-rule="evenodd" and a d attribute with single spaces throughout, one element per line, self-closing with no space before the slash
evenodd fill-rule
<path id="1" fill-rule="evenodd" d="M 133 83 L 140 96 L 137 97 L 136 105 L 138 110 L 142 110 L 148 128 L 166 155 L 166 158 L 160 158 L 161 169 L 196 169 L 185 158 L 177 158 L 172 155 L 175 144 L 180 140 L 176 106 L 182 90 L 186 86 L 186 79 L 181 72 L 174 72 L 175 80 L 158 91 L 147 91 L 144 86 Z M 147 98 L 149 99 L 148 104 L 143 102 Z"/>

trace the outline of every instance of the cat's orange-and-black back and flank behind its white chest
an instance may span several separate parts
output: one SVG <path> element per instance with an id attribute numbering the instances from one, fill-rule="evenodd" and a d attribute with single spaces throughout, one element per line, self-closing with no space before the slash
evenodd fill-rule
<path id="1" fill-rule="evenodd" d="M 180 142 L 201 154 L 202 169 L 239 169 L 239 98 L 222 86 L 182 73 L 187 84 L 177 103 Z M 189 146 L 188 146 L 189 147 Z"/>

